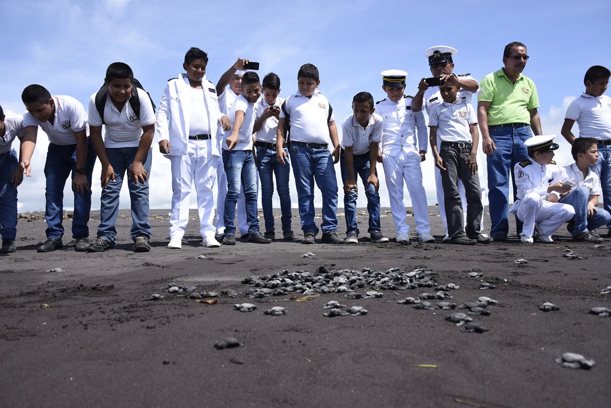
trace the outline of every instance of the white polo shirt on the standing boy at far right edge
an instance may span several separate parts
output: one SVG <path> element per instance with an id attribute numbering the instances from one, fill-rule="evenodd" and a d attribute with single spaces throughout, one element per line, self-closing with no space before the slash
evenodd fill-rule
<path id="1" fill-rule="evenodd" d="M 565 118 L 579 125 L 579 137 L 611 140 L 611 98 L 582 93 L 566 109 Z"/>

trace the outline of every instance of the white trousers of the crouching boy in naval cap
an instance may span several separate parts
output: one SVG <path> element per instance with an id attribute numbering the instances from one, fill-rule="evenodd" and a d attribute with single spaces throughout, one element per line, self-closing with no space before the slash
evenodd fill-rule
<path id="1" fill-rule="evenodd" d="M 575 209 L 568 204 L 543 200 L 539 194 L 532 192 L 521 199 L 518 209 L 511 213 L 524 223 L 522 235 L 530 238 L 535 233 L 535 224 L 539 224 L 541 233 L 552 236 L 562 224 L 573 218 Z"/>

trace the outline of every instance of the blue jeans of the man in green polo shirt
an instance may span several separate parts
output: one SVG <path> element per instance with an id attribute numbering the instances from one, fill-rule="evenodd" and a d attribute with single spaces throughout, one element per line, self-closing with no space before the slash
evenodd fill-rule
<path id="1" fill-rule="evenodd" d="M 533 136 L 529 125 L 520 128 L 489 126 L 490 137 L 496 150 L 488 156 L 488 202 L 490 208 L 490 235 L 509 235 L 509 175 L 513 197 L 516 199 L 518 189 L 514 180 L 513 167 L 529 158 L 525 140 Z M 516 218 L 518 233 L 522 222 Z"/>

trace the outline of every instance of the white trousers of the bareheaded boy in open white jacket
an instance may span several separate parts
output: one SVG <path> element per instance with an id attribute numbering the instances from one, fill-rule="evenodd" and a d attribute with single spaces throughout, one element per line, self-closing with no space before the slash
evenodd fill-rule
<path id="1" fill-rule="evenodd" d="M 200 233 L 203 238 L 214 238 L 214 194 L 216 159 L 211 155 L 212 140 L 189 140 L 186 155 L 168 156 L 172 169 L 172 213 L 170 239 L 185 235 L 189 222 L 189 202 L 195 183 Z"/>

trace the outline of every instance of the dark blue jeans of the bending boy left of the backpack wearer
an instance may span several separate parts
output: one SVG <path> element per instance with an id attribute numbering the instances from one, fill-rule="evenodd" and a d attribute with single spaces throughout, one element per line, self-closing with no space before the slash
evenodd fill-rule
<path id="1" fill-rule="evenodd" d="M 87 157 L 85 161 L 85 175 L 87 183 L 91 186 L 91 175 L 95 164 L 95 151 L 91 141 L 87 140 Z M 49 143 L 45 163 L 45 220 L 46 238 L 61 239 L 64 236 L 64 186 L 68 176 L 70 180 L 75 177 L 76 144 L 60 146 Z M 71 184 L 71 183 L 70 183 Z M 91 210 L 91 189 L 79 194 L 73 190 L 75 197 L 74 217 L 72 219 L 72 238 L 86 238 L 89 236 L 89 212 Z"/>

